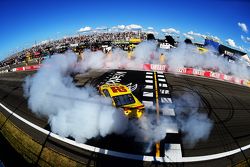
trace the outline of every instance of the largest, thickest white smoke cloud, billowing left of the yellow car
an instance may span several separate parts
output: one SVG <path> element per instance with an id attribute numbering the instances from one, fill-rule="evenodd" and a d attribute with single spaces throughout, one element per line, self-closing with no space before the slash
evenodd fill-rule
<path id="1" fill-rule="evenodd" d="M 48 117 L 53 132 L 72 136 L 79 142 L 123 133 L 127 118 L 112 106 L 110 99 L 101 97 L 92 87 L 74 85 L 70 73 L 75 64 L 73 53 L 55 55 L 32 78 L 26 79 L 24 89 L 32 112 Z"/>

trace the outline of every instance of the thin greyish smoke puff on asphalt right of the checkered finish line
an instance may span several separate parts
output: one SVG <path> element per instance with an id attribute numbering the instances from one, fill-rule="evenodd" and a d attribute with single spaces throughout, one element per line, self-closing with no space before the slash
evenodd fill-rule
<path id="1" fill-rule="evenodd" d="M 198 111 L 200 98 L 194 93 L 184 93 L 174 101 L 176 120 L 179 129 L 184 133 L 184 143 L 193 147 L 197 142 L 207 140 L 213 123 L 206 113 Z"/>

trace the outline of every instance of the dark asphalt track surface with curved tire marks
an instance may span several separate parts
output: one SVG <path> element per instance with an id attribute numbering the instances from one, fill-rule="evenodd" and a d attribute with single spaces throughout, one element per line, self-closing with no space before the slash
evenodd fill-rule
<path id="1" fill-rule="evenodd" d="M 120 72 L 118 76 L 117 72 Z M 0 101 L 13 112 L 30 122 L 45 129 L 50 129 L 47 123 L 47 118 L 41 118 L 34 115 L 28 109 L 27 100 L 23 97 L 23 79 L 25 76 L 32 73 L 33 72 L 0 74 Z M 152 97 L 151 95 L 143 96 L 143 92 L 145 91 L 151 94 L 149 90 L 145 90 L 145 75 L 146 72 L 142 71 L 113 70 L 108 72 L 90 72 L 77 76 L 76 84 L 78 86 L 84 86 L 88 83 L 97 86 L 107 81 L 111 82 L 112 80 L 116 80 L 122 84 L 132 86 L 133 89 L 135 89 L 133 93 L 139 100 L 152 100 L 155 104 L 155 92 L 153 92 Z M 164 156 L 164 147 L 167 143 L 180 144 L 182 156 L 184 157 L 216 154 L 250 144 L 250 88 L 193 76 L 174 74 L 164 74 L 164 76 L 169 85 L 168 89 L 170 91 L 170 95 L 162 96 L 171 96 L 173 102 L 175 102 L 175 99 L 178 99 L 183 94 L 199 96 L 201 101 L 199 103 L 198 112 L 208 114 L 209 118 L 213 121 L 213 129 L 208 140 L 201 141 L 192 148 L 182 141 L 183 134 L 181 132 L 178 134 L 166 134 L 166 138 L 161 141 L 161 156 Z M 192 107 L 193 106 L 175 106 L 175 110 Z M 41 143 L 45 143 L 46 146 L 52 147 L 53 149 L 56 149 L 82 162 L 86 162 L 86 165 L 91 166 L 228 166 L 245 160 L 246 157 L 250 157 L 250 151 L 245 150 L 226 158 L 211 161 L 158 164 L 155 162 L 143 163 L 139 161 L 113 158 L 100 154 L 91 154 L 78 148 L 72 148 L 71 146 L 61 143 L 60 141 L 56 141 L 50 137 L 47 138 L 46 135 L 35 132 L 32 128 L 12 117 L 4 111 L 4 109 L 0 108 L 0 110 L 6 115 L 6 117 L 8 117 L 8 119 Z M 153 111 L 149 110 L 149 112 Z M 110 144 L 110 141 L 116 142 L 112 142 L 112 144 Z M 124 141 L 126 141 L 125 145 Z M 143 144 L 145 144 L 141 142 L 134 142 L 134 140 L 130 137 L 115 135 L 110 135 L 103 139 L 92 139 L 87 143 L 100 147 L 107 147 L 108 145 L 110 147 L 108 149 L 127 153 L 143 153 L 141 150 Z M 153 148 L 152 152 L 147 154 L 155 155 L 155 148 Z"/>

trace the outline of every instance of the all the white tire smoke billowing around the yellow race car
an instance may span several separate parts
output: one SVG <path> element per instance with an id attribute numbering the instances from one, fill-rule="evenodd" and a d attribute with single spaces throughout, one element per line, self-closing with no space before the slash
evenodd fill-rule
<path id="1" fill-rule="evenodd" d="M 176 122 L 160 116 L 155 119 L 150 114 L 138 121 L 128 121 L 121 111 L 112 107 L 111 100 L 101 97 L 95 88 L 78 88 L 74 85 L 71 73 L 84 73 L 89 69 L 125 68 L 143 70 L 144 63 L 159 64 L 159 56 L 166 56 L 165 64 L 175 71 L 179 67 L 214 68 L 223 73 L 249 77 L 245 66 L 230 64 L 212 51 L 200 55 L 194 46 L 180 44 L 170 51 L 157 49 L 155 42 L 142 42 L 134 50 L 132 59 L 127 52 L 114 49 L 108 55 L 101 51 L 85 50 L 83 60 L 77 62 L 76 55 L 68 52 L 52 56 L 33 76 L 26 78 L 25 96 L 32 112 L 48 117 L 51 129 L 64 137 L 72 136 L 85 142 L 97 136 L 111 133 L 129 133 L 136 140 L 155 143 L 166 135 L 166 128 L 178 128 L 184 133 L 184 141 L 194 146 L 206 140 L 212 129 L 212 122 L 197 110 L 178 110 Z M 185 100 L 187 100 L 185 102 Z M 189 101 L 190 100 L 190 101 Z M 183 95 L 176 100 L 177 105 L 199 106 L 200 99 Z M 188 111 L 188 112 L 187 112 Z"/>

